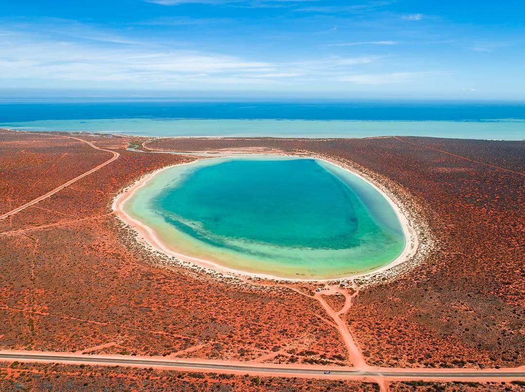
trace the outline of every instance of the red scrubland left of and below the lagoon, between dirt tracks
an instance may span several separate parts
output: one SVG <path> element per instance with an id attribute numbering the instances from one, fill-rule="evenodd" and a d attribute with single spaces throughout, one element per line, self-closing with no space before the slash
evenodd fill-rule
<path id="1" fill-rule="evenodd" d="M 93 353 L 255 361 L 282 350 L 277 362 L 350 363 L 313 298 L 162 266 L 110 204 L 145 173 L 194 158 L 118 151 L 104 169 L 0 221 L 2 348 L 74 352 L 115 342 Z"/>

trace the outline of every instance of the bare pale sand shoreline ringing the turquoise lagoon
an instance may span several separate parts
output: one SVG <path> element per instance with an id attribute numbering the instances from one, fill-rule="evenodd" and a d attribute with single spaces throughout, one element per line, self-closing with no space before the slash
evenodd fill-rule
<path id="1" fill-rule="evenodd" d="M 255 153 L 254 155 L 257 155 Z M 268 155 L 268 154 L 260 154 L 260 155 Z M 289 154 L 271 154 L 271 155 L 287 155 L 287 156 L 293 156 Z M 224 156 L 223 156 L 224 157 Z M 306 156 L 301 156 L 302 158 L 305 158 Z M 214 157 L 214 158 L 206 158 L 206 159 L 216 159 L 220 157 Z M 213 262 L 212 260 L 206 260 L 201 258 L 196 258 L 188 255 L 184 255 L 181 253 L 178 253 L 174 251 L 168 244 L 165 244 L 161 238 L 159 238 L 158 235 L 154 232 L 154 230 L 143 224 L 137 219 L 134 219 L 134 217 L 130 216 L 128 213 L 126 213 L 123 209 L 123 205 L 125 202 L 127 202 L 132 196 L 135 191 L 145 186 L 145 184 L 154 176 L 156 176 L 158 173 L 169 169 L 173 166 L 181 166 L 181 165 L 190 165 L 196 161 L 192 162 L 185 162 L 183 164 L 178 165 L 172 165 L 167 166 L 162 169 L 155 170 L 148 175 L 143 176 L 139 180 L 135 181 L 131 186 L 125 188 L 121 193 L 117 195 L 116 198 L 113 199 L 112 203 L 112 209 L 113 211 L 119 216 L 119 218 L 125 223 L 130 225 L 134 228 L 135 231 L 138 232 L 141 239 L 146 244 L 149 244 L 153 247 L 155 251 L 158 251 L 160 253 L 164 253 L 166 255 L 172 256 L 179 260 L 180 262 L 188 262 L 193 264 L 195 267 L 202 267 L 206 269 L 211 269 L 213 271 L 217 271 L 219 273 L 225 274 L 225 275 L 241 275 L 241 276 L 248 276 L 248 277 L 254 277 L 254 278 L 262 278 L 262 279 L 271 279 L 271 280 L 285 280 L 285 281 L 319 281 L 319 282 L 327 282 L 327 281 L 334 281 L 334 280 L 349 280 L 349 279 L 355 279 L 355 278 L 367 278 L 371 277 L 376 274 L 380 274 L 388 269 L 391 269 L 395 266 L 398 266 L 400 264 L 403 264 L 407 260 L 411 259 L 414 254 L 417 251 L 417 248 L 419 246 L 419 241 L 417 238 L 417 235 L 415 233 L 414 228 L 411 226 L 411 222 L 408 220 L 408 218 L 403 214 L 400 205 L 398 205 L 398 201 L 394 201 L 395 198 L 392 198 L 385 190 L 383 190 L 378 184 L 376 184 L 374 181 L 370 180 L 369 178 L 365 177 L 361 172 L 342 166 L 340 162 L 330 160 L 325 157 L 320 156 L 310 156 L 310 158 L 313 159 L 319 159 L 323 160 L 325 162 L 328 162 L 331 165 L 337 166 L 343 170 L 351 172 L 353 175 L 358 176 L 363 181 L 366 181 L 369 183 L 375 190 L 381 193 L 383 197 L 388 201 L 388 203 L 392 206 L 392 209 L 396 213 L 398 220 L 401 223 L 401 226 L 403 228 L 403 234 L 405 235 L 406 242 L 405 247 L 403 249 L 403 252 L 396 257 L 392 262 L 388 263 L 385 266 L 376 268 L 372 271 L 368 271 L 366 273 L 358 273 L 354 275 L 349 276 L 342 276 L 342 277 L 336 277 L 336 278 L 327 278 L 327 279 L 315 279 L 315 278 L 288 278 L 288 277 L 280 277 L 275 275 L 268 275 L 268 274 L 262 274 L 262 273 L 250 273 L 248 271 L 238 270 L 234 268 L 229 268 L 223 265 L 220 265 L 216 262 Z"/>

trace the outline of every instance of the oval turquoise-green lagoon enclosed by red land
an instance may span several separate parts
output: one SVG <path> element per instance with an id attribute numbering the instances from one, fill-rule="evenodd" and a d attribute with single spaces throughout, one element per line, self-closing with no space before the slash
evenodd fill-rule
<path id="1" fill-rule="evenodd" d="M 124 210 L 173 251 L 283 278 L 384 266 L 405 237 L 390 203 L 328 162 L 282 156 L 198 160 L 166 169 Z"/>

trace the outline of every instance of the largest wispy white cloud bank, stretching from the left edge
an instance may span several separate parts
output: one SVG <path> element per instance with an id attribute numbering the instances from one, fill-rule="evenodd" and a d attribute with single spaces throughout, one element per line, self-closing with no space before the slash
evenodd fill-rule
<path id="1" fill-rule="evenodd" d="M 64 31 L 60 31 L 60 26 Z M 0 79 L 71 82 L 129 82 L 172 85 L 201 83 L 282 83 L 300 79 L 326 80 L 377 56 L 321 57 L 284 62 L 251 59 L 224 53 L 187 50 L 172 42 L 134 40 L 103 29 L 70 23 L 55 26 L 54 34 L 19 24 L 0 28 Z M 77 34 L 78 33 L 78 34 Z M 92 37 L 98 37 L 92 39 Z"/>

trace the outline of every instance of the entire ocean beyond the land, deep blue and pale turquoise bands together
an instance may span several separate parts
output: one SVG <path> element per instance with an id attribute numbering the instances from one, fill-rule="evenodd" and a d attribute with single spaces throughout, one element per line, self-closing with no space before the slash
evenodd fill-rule
<path id="1" fill-rule="evenodd" d="M 0 127 L 147 136 L 525 139 L 525 102 L 114 101 L 0 103 Z"/>

